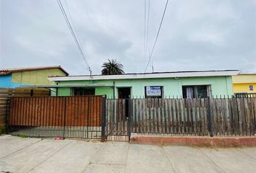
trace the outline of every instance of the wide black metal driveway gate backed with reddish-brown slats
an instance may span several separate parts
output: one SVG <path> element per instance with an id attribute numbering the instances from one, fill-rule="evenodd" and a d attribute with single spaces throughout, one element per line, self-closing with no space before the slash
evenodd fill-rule
<path id="1" fill-rule="evenodd" d="M 7 132 L 31 137 L 101 138 L 102 98 L 9 98 Z"/>

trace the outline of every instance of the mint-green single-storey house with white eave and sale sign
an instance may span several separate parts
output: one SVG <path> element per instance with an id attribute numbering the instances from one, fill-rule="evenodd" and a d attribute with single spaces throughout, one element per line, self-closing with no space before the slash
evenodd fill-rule
<path id="1" fill-rule="evenodd" d="M 103 95 L 128 97 L 212 97 L 233 95 L 231 76 L 237 70 L 175 71 L 147 74 L 52 76 L 56 95 Z"/>

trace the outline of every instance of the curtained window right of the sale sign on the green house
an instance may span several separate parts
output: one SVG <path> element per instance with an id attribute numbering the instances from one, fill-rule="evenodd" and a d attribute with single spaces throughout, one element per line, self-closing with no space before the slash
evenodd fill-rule
<path id="1" fill-rule="evenodd" d="M 205 98 L 211 96 L 210 85 L 182 86 L 183 98 Z"/>

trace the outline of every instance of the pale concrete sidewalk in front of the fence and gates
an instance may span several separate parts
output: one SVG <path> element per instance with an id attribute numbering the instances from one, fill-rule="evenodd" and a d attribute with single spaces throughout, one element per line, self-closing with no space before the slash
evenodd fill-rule
<path id="1" fill-rule="evenodd" d="M 0 136 L 0 172 L 256 172 L 256 148 Z"/>

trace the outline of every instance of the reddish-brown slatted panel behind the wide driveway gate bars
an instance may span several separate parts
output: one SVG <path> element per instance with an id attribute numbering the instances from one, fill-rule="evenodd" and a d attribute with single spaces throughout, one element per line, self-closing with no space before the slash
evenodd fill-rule
<path id="1" fill-rule="evenodd" d="M 101 126 L 101 96 L 13 97 L 9 126 Z"/>

